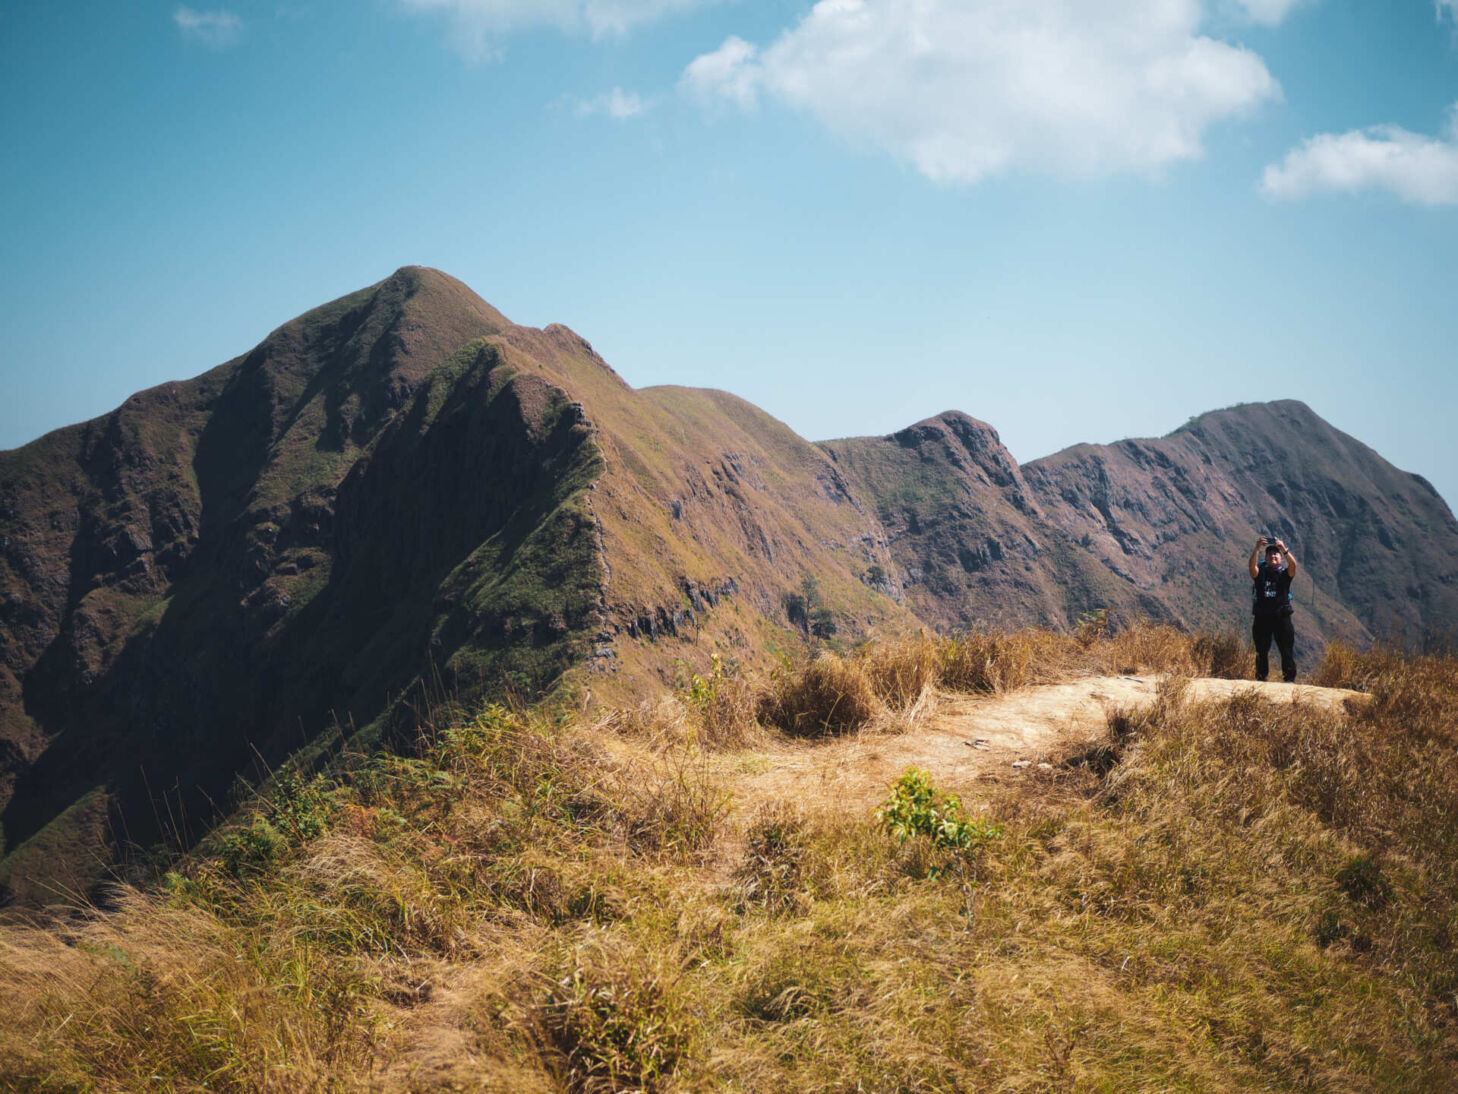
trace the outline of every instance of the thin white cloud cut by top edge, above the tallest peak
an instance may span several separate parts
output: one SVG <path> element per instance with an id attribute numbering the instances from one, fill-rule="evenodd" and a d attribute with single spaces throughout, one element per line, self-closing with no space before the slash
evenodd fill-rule
<path id="1" fill-rule="evenodd" d="M 551 28 L 595 38 L 625 34 L 672 12 L 713 0 L 399 0 L 407 12 L 439 13 L 451 20 L 456 45 L 488 57 L 513 31 Z"/>

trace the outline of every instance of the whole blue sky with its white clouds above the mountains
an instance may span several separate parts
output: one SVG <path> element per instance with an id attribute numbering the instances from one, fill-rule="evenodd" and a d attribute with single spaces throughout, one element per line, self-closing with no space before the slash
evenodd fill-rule
<path id="1" fill-rule="evenodd" d="M 1454 503 L 1455 7 L 0 4 L 0 446 L 417 263 L 811 439 L 1290 397 Z"/>

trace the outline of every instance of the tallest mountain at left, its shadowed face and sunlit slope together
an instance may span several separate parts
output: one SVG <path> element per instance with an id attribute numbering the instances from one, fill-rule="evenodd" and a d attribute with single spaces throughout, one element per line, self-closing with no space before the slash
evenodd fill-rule
<path id="1" fill-rule="evenodd" d="M 911 623 L 816 448 L 421 268 L 0 454 L 0 847 L 32 861 L 195 836 L 239 775 L 426 693 L 757 655 L 808 575 L 847 629 Z"/>

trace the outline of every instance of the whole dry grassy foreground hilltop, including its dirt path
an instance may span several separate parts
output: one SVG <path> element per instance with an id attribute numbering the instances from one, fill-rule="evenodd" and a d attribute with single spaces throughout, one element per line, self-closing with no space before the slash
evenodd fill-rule
<path id="1" fill-rule="evenodd" d="M 443 715 L 0 928 L 0 1085 L 1452 1090 L 1458 659 L 1248 664 L 1091 626 Z"/>

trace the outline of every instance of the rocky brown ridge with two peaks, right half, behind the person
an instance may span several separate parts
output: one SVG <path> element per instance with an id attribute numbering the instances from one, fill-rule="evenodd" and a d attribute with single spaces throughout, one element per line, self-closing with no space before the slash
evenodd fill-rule
<path id="1" fill-rule="evenodd" d="M 1108 608 L 1242 626 L 1257 531 L 1283 537 L 1305 640 L 1423 645 L 1458 632 L 1458 522 L 1293 401 L 1219 410 L 1166 438 L 1077 445 L 1022 467 L 946 413 L 824 442 L 886 529 L 916 613 L 943 629 L 1060 626 Z"/>

